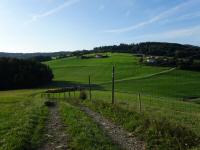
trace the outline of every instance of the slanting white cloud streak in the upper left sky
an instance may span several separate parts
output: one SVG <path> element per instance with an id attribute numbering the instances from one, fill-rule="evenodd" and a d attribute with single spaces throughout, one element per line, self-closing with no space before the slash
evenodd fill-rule
<path id="1" fill-rule="evenodd" d="M 66 2 L 64 2 L 63 4 L 53 8 L 53 9 L 50 9 L 46 12 L 43 12 L 43 13 L 40 13 L 40 14 L 36 14 L 36 15 L 33 15 L 32 18 L 28 21 L 25 22 L 25 24 L 29 24 L 31 22 L 34 22 L 34 21 L 37 21 L 37 20 L 40 20 L 42 18 L 45 18 L 45 17 L 48 17 L 48 16 L 51 16 L 55 13 L 58 13 L 59 11 L 63 10 L 64 8 L 66 7 L 69 7 L 77 2 L 79 2 L 80 0 L 67 0 Z"/>

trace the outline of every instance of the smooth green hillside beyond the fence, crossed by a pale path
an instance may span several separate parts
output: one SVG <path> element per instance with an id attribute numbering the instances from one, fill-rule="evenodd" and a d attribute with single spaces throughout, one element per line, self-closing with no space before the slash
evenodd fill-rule
<path id="1" fill-rule="evenodd" d="M 92 83 L 101 88 L 111 89 L 112 65 L 116 66 L 116 89 L 120 92 L 143 93 L 160 97 L 199 97 L 200 73 L 173 70 L 170 68 L 144 66 L 131 54 L 109 54 L 103 59 L 79 59 L 75 57 L 47 62 L 53 69 L 55 81 Z M 120 81 L 122 80 L 122 81 Z"/>

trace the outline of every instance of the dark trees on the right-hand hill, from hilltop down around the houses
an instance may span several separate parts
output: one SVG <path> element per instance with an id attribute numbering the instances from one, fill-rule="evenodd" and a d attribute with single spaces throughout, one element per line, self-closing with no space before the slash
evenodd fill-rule
<path id="1" fill-rule="evenodd" d="M 141 63 L 143 63 L 145 57 L 155 56 L 153 62 L 145 63 L 148 65 L 173 66 L 180 69 L 200 71 L 200 47 L 178 43 L 143 42 L 138 44 L 100 46 L 95 47 L 92 51 L 76 51 L 72 54 L 80 57 L 85 54 L 103 52 L 131 53 L 140 56 Z"/>

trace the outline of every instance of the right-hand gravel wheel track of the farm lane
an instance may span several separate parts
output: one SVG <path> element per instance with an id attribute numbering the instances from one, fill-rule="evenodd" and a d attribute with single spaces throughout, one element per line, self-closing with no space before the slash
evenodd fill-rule
<path id="1" fill-rule="evenodd" d="M 126 150 L 145 150 L 145 144 L 138 141 L 132 134 L 123 130 L 117 125 L 114 125 L 109 120 L 102 117 L 100 114 L 90 110 L 85 106 L 80 106 L 80 109 L 89 115 L 102 129 L 118 143 L 123 149 Z"/>

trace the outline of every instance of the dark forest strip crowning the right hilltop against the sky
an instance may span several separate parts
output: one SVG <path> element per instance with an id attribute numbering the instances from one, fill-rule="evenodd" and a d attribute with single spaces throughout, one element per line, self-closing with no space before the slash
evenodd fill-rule
<path id="1" fill-rule="evenodd" d="M 95 47 L 93 52 L 120 52 L 176 58 L 192 57 L 200 59 L 200 47 L 165 42 L 143 42 L 138 44 L 120 44 Z"/>

